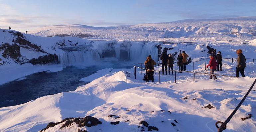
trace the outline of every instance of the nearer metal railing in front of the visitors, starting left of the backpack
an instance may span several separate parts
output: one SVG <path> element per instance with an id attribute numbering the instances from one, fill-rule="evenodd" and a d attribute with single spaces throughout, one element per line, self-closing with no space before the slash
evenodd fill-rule
<path id="1" fill-rule="evenodd" d="M 146 70 L 146 76 L 147 76 L 147 70 L 149 71 L 153 71 L 153 72 L 158 72 L 158 83 L 160 83 L 160 72 L 175 72 L 175 83 L 176 83 L 176 73 L 177 72 L 187 72 L 187 73 L 193 73 L 193 81 L 195 81 L 195 74 L 207 74 L 207 75 L 213 75 L 214 76 L 223 76 L 223 77 L 232 77 L 232 78 L 238 78 L 235 76 L 228 76 L 228 75 L 219 75 L 219 74 L 210 74 L 210 73 L 202 73 L 202 72 L 194 72 L 194 71 L 178 71 L 178 70 L 168 70 L 168 71 L 159 71 L 159 70 L 151 70 L 151 69 L 146 69 L 146 68 L 142 68 L 142 67 L 137 67 L 137 66 L 133 66 L 134 67 L 134 76 L 136 79 L 136 68 L 140 68 L 141 71 L 142 69 Z M 154 76 L 154 75 L 153 75 Z M 215 78 L 214 78 L 215 80 Z M 146 77 L 146 82 L 147 82 L 147 77 Z"/>

